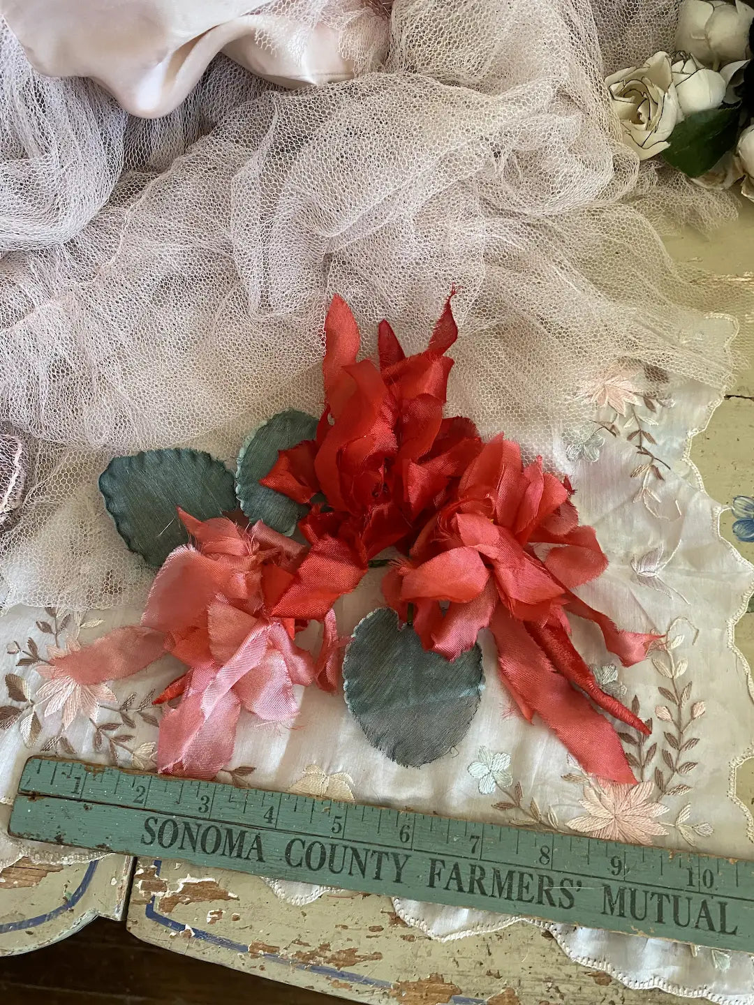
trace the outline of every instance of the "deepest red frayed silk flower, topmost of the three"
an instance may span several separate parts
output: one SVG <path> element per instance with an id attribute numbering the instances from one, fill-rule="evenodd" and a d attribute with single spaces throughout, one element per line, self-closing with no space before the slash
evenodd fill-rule
<path id="1" fill-rule="evenodd" d="M 299 502 L 319 493 L 299 527 L 312 548 L 272 613 L 323 618 L 356 588 L 368 562 L 390 546 L 410 548 L 482 449 L 474 423 L 443 418 L 458 330 L 450 300 L 429 346 L 406 357 L 387 322 L 379 326 L 379 368 L 356 357 L 359 330 L 336 296 L 325 322 L 325 411 L 317 438 L 281 450 L 261 484 Z"/>

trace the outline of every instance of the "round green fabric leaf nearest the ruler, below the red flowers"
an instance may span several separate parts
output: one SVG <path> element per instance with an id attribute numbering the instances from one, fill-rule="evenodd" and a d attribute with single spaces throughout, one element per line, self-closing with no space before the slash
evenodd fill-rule
<path id="1" fill-rule="evenodd" d="M 377 750 L 418 768 L 436 761 L 465 735 L 485 687 L 476 645 L 449 662 L 426 652 L 395 611 L 368 614 L 343 661 L 346 702 Z"/>

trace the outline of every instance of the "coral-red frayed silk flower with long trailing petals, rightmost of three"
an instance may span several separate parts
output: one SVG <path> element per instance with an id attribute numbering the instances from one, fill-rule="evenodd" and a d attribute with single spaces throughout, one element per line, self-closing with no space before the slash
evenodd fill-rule
<path id="1" fill-rule="evenodd" d="M 421 530 L 410 559 L 387 574 L 383 590 L 404 619 L 413 606 L 422 644 L 448 659 L 489 627 L 501 676 L 526 719 L 538 714 L 587 771 L 634 782 L 617 735 L 585 695 L 648 731 L 599 687 L 570 640 L 566 617 L 594 621 L 624 665 L 645 657 L 656 636 L 619 631 L 572 593 L 606 565 L 592 528 L 579 526 L 569 487 L 543 471 L 541 460 L 524 466 L 518 444 L 497 436 Z"/>

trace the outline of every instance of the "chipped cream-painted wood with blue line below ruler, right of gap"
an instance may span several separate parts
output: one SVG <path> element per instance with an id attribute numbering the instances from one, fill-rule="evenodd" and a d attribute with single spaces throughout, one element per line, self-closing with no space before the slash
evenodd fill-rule
<path id="1" fill-rule="evenodd" d="M 154 900 L 153 900 L 154 896 Z M 173 952 L 374 1005 L 672 1005 L 568 960 L 530 925 L 450 943 L 406 926 L 387 897 L 332 893 L 304 908 L 255 877 L 139 861 L 129 930 Z M 218 975 L 218 988 L 222 977 Z M 256 1000 L 249 994 L 249 1000 Z M 264 999 L 259 999 L 264 1000 Z M 328 998 L 328 1001 L 335 1001 Z"/>

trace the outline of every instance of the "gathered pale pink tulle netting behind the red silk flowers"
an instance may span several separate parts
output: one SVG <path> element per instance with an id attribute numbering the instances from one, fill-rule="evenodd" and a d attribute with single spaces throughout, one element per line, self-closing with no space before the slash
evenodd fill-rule
<path id="1" fill-rule="evenodd" d="M 682 276 L 655 225 L 712 226 L 735 203 L 639 172 L 598 55 L 640 61 L 678 6 L 396 0 L 379 71 L 292 92 L 218 56 L 155 121 L 38 74 L 4 30 L 0 432 L 28 465 L 5 603 L 138 597 L 150 574 L 98 474 L 155 446 L 230 460 L 276 410 L 318 412 L 335 292 L 372 336 L 399 320 L 414 351 L 455 285 L 449 408 L 530 455 L 626 360 L 724 389 L 717 282 Z"/>

